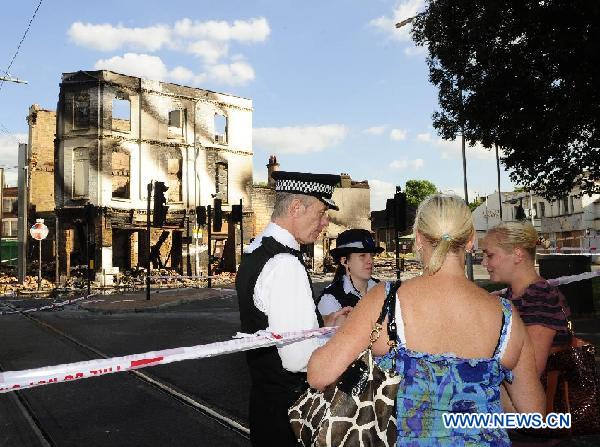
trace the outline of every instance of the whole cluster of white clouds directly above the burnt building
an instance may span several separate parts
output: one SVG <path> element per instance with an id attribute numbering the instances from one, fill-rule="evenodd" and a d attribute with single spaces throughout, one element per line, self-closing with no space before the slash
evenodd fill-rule
<path id="1" fill-rule="evenodd" d="M 233 22 L 200 22 L 186 18 L 173 26 L 154 25 L 146 28 L 75 22 L 70 26 L 68 35 L 77 45 L 95 50 L 169 50 L 193 54 L 202 61 L 196 70 L 184 66 L 170 70 L 161 59 L 162 53 L 153 56 L 130 51 L 98 60 L 96 69 L 195 86 L 206 82 L 239 86 L 254 80 L 256 74 L 243 54 L 229 56 L 231 42 L 262 42 L 270 32 L 269 23 L 264 17 Z"/>

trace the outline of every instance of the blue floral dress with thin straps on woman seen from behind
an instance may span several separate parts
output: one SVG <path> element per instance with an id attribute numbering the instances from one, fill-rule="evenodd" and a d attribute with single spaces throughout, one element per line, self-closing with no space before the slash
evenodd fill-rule
<path id="1" fill-rule="evenodd" d="M 500 364 L 510 336 L 512 308 L 502 302 L 503 323 L 492 358 L 465 359 L 453 354 L 428 354 L 408 349 L 403 340 L 402 316 L 396 302 L 398 349 L 379 359 L 393 367 L 402 380 L 396 398 L 397 446 L 510 446 L 504 429 L 448 429 L 443 413 L 502 413 L 500 384 L 512 372 Z"/>

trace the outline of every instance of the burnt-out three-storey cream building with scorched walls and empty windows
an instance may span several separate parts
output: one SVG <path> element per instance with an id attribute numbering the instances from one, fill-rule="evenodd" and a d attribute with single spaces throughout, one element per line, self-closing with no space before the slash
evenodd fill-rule
<path id="1" fill-rule="evenodd" d="M 88 258 L 104 278 L 145 265 L 156 181 L 169 208 L 151 245 L 161 266 L 193 274 L 207 243 L 192 240 L 196 206 L 218 198 L 227 213 L 242 200 L 251 215 L 252 101 L 111 71 L 65 73 L 53 161 L 60 274 Z"/>

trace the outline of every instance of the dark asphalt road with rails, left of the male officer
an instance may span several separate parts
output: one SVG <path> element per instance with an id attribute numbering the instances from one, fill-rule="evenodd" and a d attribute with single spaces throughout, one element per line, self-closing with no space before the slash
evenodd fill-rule
<path id="1" fill-rule="evenodd" d="M 98 358 L 23 317 L 0 317 L 0 365 L 22 370 Z M 238 330 L 235 300 L 213 299 L 160 313 L 35 313 L 108 356 L 225 340 Z M 243 354 L 145 368 L 178 391 L 247 426 Z M 31 416 L 28 416 L 31 414 Z M 40 427 L 36 435 L 28 417 Z M 1 446 L 249 446 L 245 436 L 131 373 L 0 394 Z"/>

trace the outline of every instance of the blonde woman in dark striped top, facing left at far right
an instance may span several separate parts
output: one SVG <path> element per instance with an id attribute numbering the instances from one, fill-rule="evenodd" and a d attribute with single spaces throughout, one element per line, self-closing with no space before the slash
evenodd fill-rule
<path id="1" fill-rule="evenodd" d="M 482 241 L 483 265 L 490 279 L 509 285 L 505 298 L 519 311 L 542 374 L 552 347 L 569 343 L 565 297 L 535 269 L 538 234 L 529 222 L 505 222 L 492 228 Z"/>

